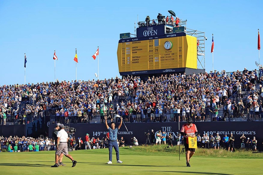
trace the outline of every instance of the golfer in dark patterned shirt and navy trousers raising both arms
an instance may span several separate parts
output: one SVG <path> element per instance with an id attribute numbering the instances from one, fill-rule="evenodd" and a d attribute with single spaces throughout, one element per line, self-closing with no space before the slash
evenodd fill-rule
<path id="1" fill-rule="evenodd" d="M 107 164 L 112 164 L 112 162 L 111 162 L 112 161 L 112 147 L 114 147 L 114 150 L 116 152 L 117 163 L 122 163 L 122 161 L 119 160 L 119 145 L 117 144 L 117 134 L 118 134 L 118 130 L 122 126 L 122 117 L 120 117 L 121 122 L 120 122 L 118 128 L 115 128 L 114 122 L 110 123 L 110 127 L 108 126 L 107 116 L 105 116 L 104 119 L 105 119 L 106 128 L 109 130 L 109 134 L 110 134 L 110 139 L 108 141 L 109 162 L 107 162 Z"/>

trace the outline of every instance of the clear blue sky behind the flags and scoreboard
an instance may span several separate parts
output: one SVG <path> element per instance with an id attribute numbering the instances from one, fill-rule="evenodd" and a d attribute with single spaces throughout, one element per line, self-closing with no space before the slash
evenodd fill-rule
<path id="1" fill-rule="evenodd" d="M 174 5 L 173 5 L 174 3 Z M 255 69 L 258 61 L 257 29 L 263 38 L 262 1 L 0 1 L 0 85 L 75 79 L 75 48 L 79 63 L 77 79 L 95 79 L 99 50 L 100 79 L 119 76 L 117 45 L 120 33 L 134 33 L 134 22 L 155 19 L 173 10 L 187 19 L 187 28 L 204 31 L 206 70 Z M 261 39 L 263 43 L 263 39 Z M 261 49 L 262 51 L 262 49 Z M 262 61 L 263 62 L 263 53 Z M 120 76 L 119 76 L 120 77 Z"/>

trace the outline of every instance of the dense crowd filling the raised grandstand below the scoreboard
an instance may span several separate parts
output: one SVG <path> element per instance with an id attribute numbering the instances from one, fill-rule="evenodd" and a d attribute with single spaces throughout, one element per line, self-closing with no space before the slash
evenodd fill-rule
<path id="1" fill-rule="evenodd" d="M 228 114 L 232 117 L 243 117 L 244 111 L 250 111 L 249 120 L 259 120 L 262 103 L 256 101 L 263 88 L 256 90 L 255 83 L 263 84 L 262 67 L 259 74 L 258 77 L 257 70 L 244 68 L 230 74 L 225 70 L 192 75 L 171 73 L 152 76 L 146 81 L 139 76 L 128 76 L 3 85 L 0 88 L 1 123 L 6 123 L 6 116 L 23 118 L 43 114 L 62 117 L 64 123 L 71 122 L 71 116 L 77 118 L 77 123 L 83 123 L 100 114 L 103 122 L 106 113 L 111 114 L 109 118 L 122 115 L 125 122 L 177 121 L 178 117 L 185 121 L 189 116 L 195 121 L 206 121 L 208 113 L 216 118 L 219 108 L 225 104 L 228 105 L 225 111 L 236 111 Z M 241 94 L 244 90 L 249 94 L 247 102 L 243 102 L 243 98 L 228 101 L 234 93 Z M 23 101 L 27 103 L 21 108 Z"/>

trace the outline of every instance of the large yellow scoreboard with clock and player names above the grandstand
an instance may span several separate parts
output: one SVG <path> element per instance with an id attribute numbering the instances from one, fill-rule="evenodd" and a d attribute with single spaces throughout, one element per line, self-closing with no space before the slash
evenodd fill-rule
<path id="1" fill-rule="evenodd" d="M 117 50 L 119 72 L 185 67 L 197 69 L 197 39 L 183 35 L 167 34 L 162 38 L 119 40 Z"/>

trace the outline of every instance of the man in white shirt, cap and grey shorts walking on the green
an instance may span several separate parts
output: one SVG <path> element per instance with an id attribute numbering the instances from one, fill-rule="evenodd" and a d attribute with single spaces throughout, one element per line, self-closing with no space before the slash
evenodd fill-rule
<path id="1" fill-rule="evenodd" d="M 59 167 L 58 161 L 62 158 L 63 154 L 72 161 L 72 167 L 76 166 L 77 161 L 75 161 L 70 154 L 68 154 L 68 133 L 64 130 L 64 125 L 59 125 L 60 131 L 57 133 L 57 145 L 56 147 L 56 164 L 51 167 Z"/>

